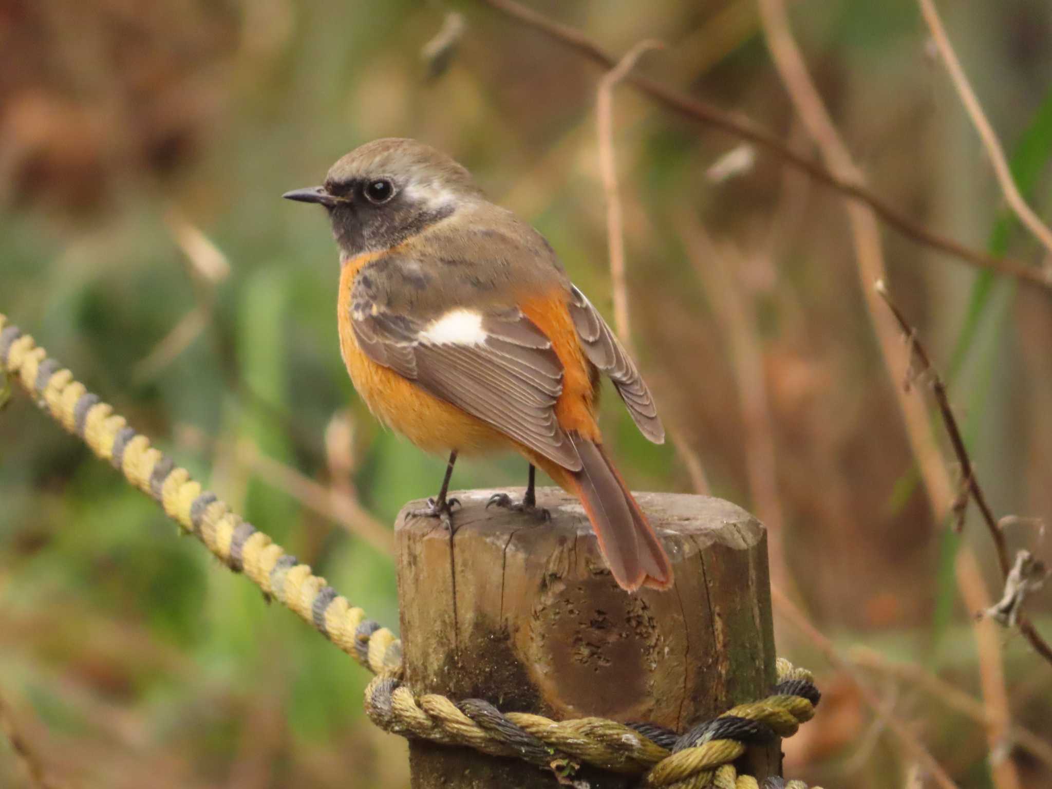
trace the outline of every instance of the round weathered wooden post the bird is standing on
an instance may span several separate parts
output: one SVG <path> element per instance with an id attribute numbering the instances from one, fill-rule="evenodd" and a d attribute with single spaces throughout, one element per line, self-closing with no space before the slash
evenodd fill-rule
<path id="1" fill-rule="evenodd" d="M 675 572 L 670 591 L 618 587 L 575 499 L 538 491 L 551 521 L 456 493 L 456 533 L 433 519 L 396 526 L 406 681 L 420 692 L 485 699 L 502 711 L 601 715 L 683 732 L 774 685 L 763 525 L 720 499 L 636 493 Z M 509 490 L 512 495 L 522 491 Z M 551 773 L 464 748 L 410 742 L 413 789 L 552 789 Z M 746 756 L 763 782 L 778 743 Z M 584 771 L 591 789 L 636 778 Z"/>

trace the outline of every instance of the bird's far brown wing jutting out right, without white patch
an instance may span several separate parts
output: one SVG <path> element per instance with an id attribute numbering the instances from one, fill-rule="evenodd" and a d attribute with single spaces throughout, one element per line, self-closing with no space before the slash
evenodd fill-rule
<path id="1" fill-rule="evenodd" d="M 570 316 L 589 361 L 610 377 L 625 401 L 632 421 L 654 444 L 665 443 L 665 428 L 658 417 L 650 389 L 603 316 L 576 286 L 571 286 Z"/>

